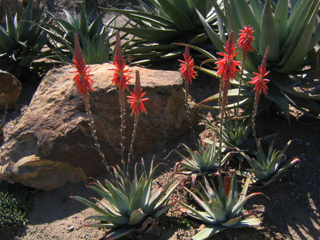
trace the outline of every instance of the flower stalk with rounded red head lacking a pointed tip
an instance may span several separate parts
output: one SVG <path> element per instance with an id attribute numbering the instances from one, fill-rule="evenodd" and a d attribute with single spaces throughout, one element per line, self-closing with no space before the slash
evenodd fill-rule
<path id="1" fill-rule="evenodd" d="M 240 89 L 241 89 L 241 81 L 244 71 L 244 63 L 247 55 L 247 51 L 253 51 L 252 48 L 252 41 L 254 40 L 253 37 L 253 28 L 248 26 L 242 26 L 241 32 L 238 34 L 239 38 L 237 40 L 237 45 L 241 47 L 242 51 L 242 61 L 241 61 L 241 70 L 240 70 L 240 78 L 239 78 L 239 88 L 238 88 L 238 97 L 237 97 L 237 104 L 236 104 L 236 111 L 235 111 L 235 124 L 237 124 L 238 120 L 238 111 L 239 111 L 239 97 L 240 97 Z"/>

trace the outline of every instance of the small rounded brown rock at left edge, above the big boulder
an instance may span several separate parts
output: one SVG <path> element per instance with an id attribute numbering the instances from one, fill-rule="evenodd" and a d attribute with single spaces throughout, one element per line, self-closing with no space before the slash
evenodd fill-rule
<path id="1" fill-rule="evenodd" d="M 12 74 L 0 70 L 0 109 L 5 104 L 11 106 L 17 101 L 21 93 L 22 85 Z"/>

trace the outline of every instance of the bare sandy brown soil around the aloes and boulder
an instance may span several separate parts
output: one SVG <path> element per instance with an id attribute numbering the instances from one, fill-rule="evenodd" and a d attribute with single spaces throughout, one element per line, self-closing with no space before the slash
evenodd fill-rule
<path id="1" fill-rule="evenodd" d="M 77 0 L 71 2 L 73 2 L 75 7 L 78 7 L 80 3 Z M 105 4 L 106 2 L 92 0 L 87 5 L 101 6 L 101 4 Z M 62 8 L 71 9 L 70 1 L 49 0 L 49 3 L 55 4 L 55 7 L 51 7 L 50 11 L 53 11 L 56 15 L 60 14 L 60 17 L 63 15 L 61 13 Z M 133 0 L 128 3 L 135 4 Z M 78 9 L 76 8 L 76 10 Z M 19 100 L 8 109 L 3 128 L 5 139 L 23 115 L 34 91 L 34 86 L 27 83 L 23 84 Z M 217 80 L 212 80 L 212 84 L 210 85 L 202 85 L 199 81 L 195 80 L 190 88 L 190 95 L 197 103 L 217 92 Z M 275 140 L 276 148 L 282 148 L 288 140 L 295 139 L 287 149 L 286 159 L 290 160 L 293 157 L 297 157 L 300 160 L 299 164 L 295 167 L 291 166 L 273 185 L 264 188 L 251 188 L 250 191 L 261 192 L 263 195 L 260 194 L 252 197 L 244 207 L 246 210 L 257 209 L 255 215 L 262 219 L 260 226 L 231 228 L 208 239 L 235 239 L 235 236 L 236 239 L 241 240 L 320 239 L 320 121 L 319 119 L 300 114 L 294 108 L 290 110 L 292 114 L 290 122 L 281 117 L 280 114 L 277 114 L 277 109 L 273 107 L 256 118 L 258 136 L 277 133 Z M 211 121 L 217 122 L 217 113 L 216 110 L 201 109 L 199 120 L 194 126 L 196 136 L 201 141 L 206 138 L 213 139 L 215 135 L 211 129 L 201 123 L 201 116 L 205 115 Z M 0 119 L 2 116 L 3 112 L 0 112 Z M 183 147 L 178 146 L 180 143 L 184 143 L 195 149 L 190 130 L 162 151 L 149 152 L 135 157 L 135 162 L 139 162 L 141 157 L 143 157 L 144 162 L 149 165 L 153 155 L 155 155 L 155 163 L 165 163 L 161 164 L 155 172 L 154 188 L 165 185 L 172 177 L 180 178 L 182 184 L 189 185 L 190 182 L 186 177 L 173 174 L 173 167 L 181 158 L 176 153 L 169 154 L 169 152 L 177 149 L 187 156 Z M 269 144 L 270 141 L 266 143 Z M 238 168 L 237 164 L 233 160 L 230 162 L 232 168 Z M 247 166 L 243 162 L 241 167 L 245 169 Z M 106 175 L 103 175 L 97 179 L 103 181 L 106 177 Z M 89 179 L 88 182 L 90 181 L 92 180 Z M 71 195 L 76 195 L 86 199 L 90 197 L 101 199 L 96 192 L 86 187 L 88 182 L 67 183 L 63 187 L 48 192 L 32 189 L 30 193 L 32 208 L 27 213 L 27 224 L 19 228 L 0 229 L 0 240 L 102 240 L 107 234 L 105 229 L 83 226 L 83 223 L 87 223 L 83 221 L 84 218 L 95 214 L 94 210 L 70 198 Z M 242 181 L 238 179 L 238 183 L 240 187 L 243 179 Z M 179 188 L 173 197 L 179 201 L 194 204 L 190 200 L 189 194 L 183 188 Z M 202 223 L 184 216 L 179 211 L 180 207 L 180 205 L 175 204 L 171 211 L 159 219 L 155 227 L 149 229 L 149 234 L 128 234 L 119 239 L 190 239 L 194 232 L 201 228 Z"/>

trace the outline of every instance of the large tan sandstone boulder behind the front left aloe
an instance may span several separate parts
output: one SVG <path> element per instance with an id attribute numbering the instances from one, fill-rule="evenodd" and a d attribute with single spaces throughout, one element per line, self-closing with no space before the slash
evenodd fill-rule
<path id="1" fill-rule="evenodd" d="M 91 65 L 90 105 L 96 134 L 109 165 L 120 163 L 120 109 L 111 84 L 112 65 Z M 148 114 L 139 118 L 135 154 L 163 149 L 188 128 L 182 80 L 177 71 L 131 67 L 140 72 L 149 100 Z M 91 135 L 82 97 L 75 94 L 72 67 L 50 70 L 32 97 L 2 152 L 1 177 L 50 190 L 66 181 L 81 181 L 106 172 Z M 131 74 L 134 76 L 134 73 Z M 134 78 L 131 80 L 134 83 Z M 133 84 L 129 86 L 133 91 Z M 129 94 L 129 93 L 128 93 Z M 195 104 L 189 102 L 194 111 Z M 133 118 L 125 115 L 125 149 L 131 141 Z M 193 114 L 193 121 L 198 113 Z"/>

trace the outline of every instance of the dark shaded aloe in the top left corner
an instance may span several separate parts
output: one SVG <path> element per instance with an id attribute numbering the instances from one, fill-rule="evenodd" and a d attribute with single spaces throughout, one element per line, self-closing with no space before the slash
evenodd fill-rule
<path id="1" fill-rule="evenodd" d="M 43 15 L 45 4 L 36 19 L 33 19 L 33 0 L 30 0 L 18 20 L 17 14 L 12 17 L 7 2 L 4 1 L 4 3 L 6 28 L 0 26 L 0 70 L 10 72 L 17 78 L 24 75 L 30 80 L 30 66 L 45 65 L 44 62 L 34 62 L 34 60 L 45 56 L 41 49 L 47 42 L 46 32 L 34 24 L 49 20 L 48 15 Z"/>

